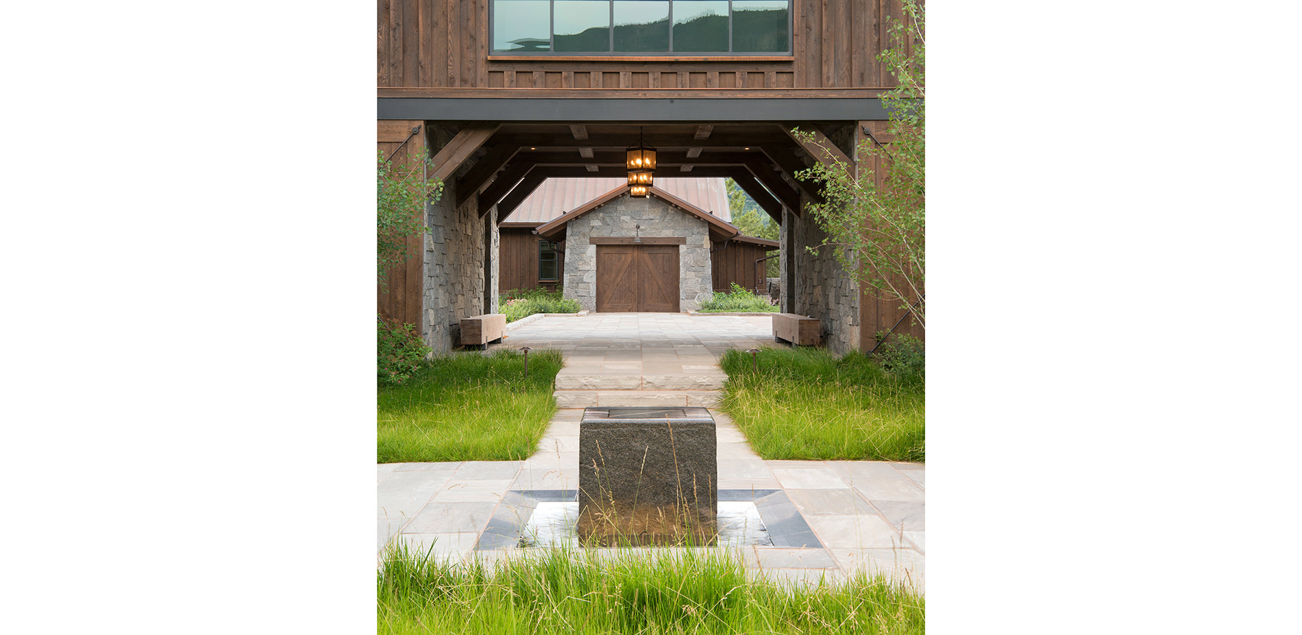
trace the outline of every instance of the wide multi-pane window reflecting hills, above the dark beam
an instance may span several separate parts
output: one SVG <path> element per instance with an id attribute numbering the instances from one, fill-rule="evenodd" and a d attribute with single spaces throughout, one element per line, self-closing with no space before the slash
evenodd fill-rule
<path id="1" fill-rule="evenodd" d="M 495 55 L 789 55 L 790 0 L 492 0 Z"/>

